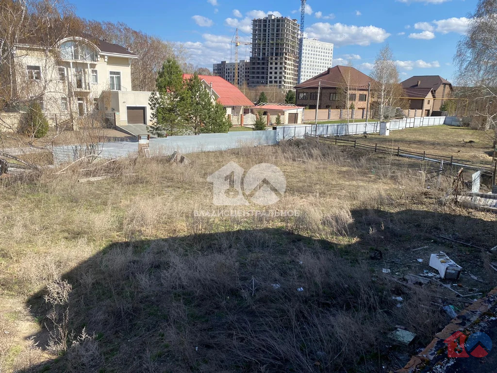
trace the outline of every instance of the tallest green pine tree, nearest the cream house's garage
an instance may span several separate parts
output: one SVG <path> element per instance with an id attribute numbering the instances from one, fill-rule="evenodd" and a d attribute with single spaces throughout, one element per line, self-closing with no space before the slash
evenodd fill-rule
<path id="1" fill-rule="evenodd" d="M 179 101 L 184 95 L 183 73 L 174 59 L 167 59 L 156 80 L 157 92 L 149 98 L 154 124 L 150 131 L 159 137 L 182 134 L 185 131 L 184 107 Z"/>

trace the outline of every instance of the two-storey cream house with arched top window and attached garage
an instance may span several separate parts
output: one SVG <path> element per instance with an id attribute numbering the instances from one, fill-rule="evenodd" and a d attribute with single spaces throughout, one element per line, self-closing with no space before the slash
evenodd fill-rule
<path id="1" fill-rule="evenodd" d="M 26 99 L 36 97 L 52 125 L 76 123 L 97 112 L 118 126 L 150 124 L 150 92 L 132 90 L 136 58 L 129 48 L 88 35 L 65 38 L 50 49 L 19 44 L 16 90 Z"/>

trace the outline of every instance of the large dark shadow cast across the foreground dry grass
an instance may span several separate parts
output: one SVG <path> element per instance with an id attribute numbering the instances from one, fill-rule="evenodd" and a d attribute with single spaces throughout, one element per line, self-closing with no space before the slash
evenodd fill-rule
<path id="1" fill-rule="evenodd" d="M 484 246 L 490 237 L 495 240 L 496 223 L 412 210 L 356 210 L 352 216 L 349 232 L 360 240 L 350 245 L 282 229 L 110 244 L 63 276 L 73 288 L 67 303 L 63 283 L 28 299 L 40 323 L 55 330 L 59 340 L 52 347 L 64 339 L 60 331 L 76 341 L 60 358 L 29 372 L 401 368 L 447 320 L 430 306 L 429 296 L 406 299 L 405 309 L 397 308 L 392 296 L 400 290 L 381 268 L 422 271 L 427 264 L 416 258 L 442 248 L 463 267 L 482 267 L 478 250 L 435 236 Z M 411 251 L 426 243 L 429 249 Z M 369 258 L 376 250 L 383 259 L 373 263 Z M 54 306 L 43 299 L 47 293 Z M 415 308 L 419 304 L 424 308 Z M 429 320 L 430 328 L 415 325 L 410 309 Z M 59 331 L 46 316 L 51 312 Z M 387 347 L 393 343 L 386 334 L 402 323 L 418 328 L 417 346 Z M 46 334 L 34 338 L 47 348 Z M 399 355 L 405 360 L 395 358 Z"/>

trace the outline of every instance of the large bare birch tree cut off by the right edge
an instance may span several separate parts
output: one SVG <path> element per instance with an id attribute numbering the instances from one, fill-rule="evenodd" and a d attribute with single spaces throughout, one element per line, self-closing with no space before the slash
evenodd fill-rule
<path id="1" fill-rule="evenodd" d="M 454 58 L 458 85 L 471 101 L 474 122 L 497 144 L 497 1 L 480 0 Z M 483 120 L 482 120 L 483 119 Z M 475 123 L 473 123 L 475 124 Z"/>

